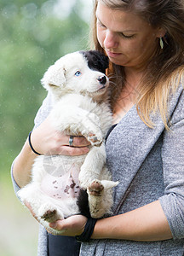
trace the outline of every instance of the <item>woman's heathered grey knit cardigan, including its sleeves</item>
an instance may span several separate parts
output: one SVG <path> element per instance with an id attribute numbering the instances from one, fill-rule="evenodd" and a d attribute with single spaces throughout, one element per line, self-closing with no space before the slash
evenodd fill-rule
<path id="1" fill-rule="evenodd" d="M 37 113 L 39 125 L 52 108 L 51 96 Z M 183 255 L 184 254 L 184 93 L 180 86 L 170 96 L 170 130 L 162 119 L 152 117 L 151 129 L 139 118 L 135 106 L 110 133 L 106 141 L 107 165 L 114 180 L 113 212 L 121 214 L 159 200 L 170 224 L 173 239 L 167 241 L 91 240 L 83 243 L 82 256 L 91 255 Z M 14 182 L 14 189 L 19 187 Z M 47 236 L 40 228 L 38 255 L 47 255 Z"/>

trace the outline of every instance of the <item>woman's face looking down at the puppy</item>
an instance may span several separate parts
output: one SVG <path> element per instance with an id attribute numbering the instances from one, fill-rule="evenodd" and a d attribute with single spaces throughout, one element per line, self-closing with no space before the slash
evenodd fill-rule
<path id="1" fill-rule="evenodd" d="M 133 13 L 109 9 L 99 2 L 96 9 L 97 38 L 110 61 L 142 69 L 158 49 L 160 29 Z"/>

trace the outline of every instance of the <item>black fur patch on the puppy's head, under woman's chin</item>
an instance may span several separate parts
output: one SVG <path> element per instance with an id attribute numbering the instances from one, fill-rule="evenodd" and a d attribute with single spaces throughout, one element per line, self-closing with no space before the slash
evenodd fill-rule
<path id="1" fill-rule="evenodd" d="M 80 51 L 88 61 L 90 69 L 106 73 L 106 68 L 109 66 L 109 60 L 106 55 L 97 50 Z"/>

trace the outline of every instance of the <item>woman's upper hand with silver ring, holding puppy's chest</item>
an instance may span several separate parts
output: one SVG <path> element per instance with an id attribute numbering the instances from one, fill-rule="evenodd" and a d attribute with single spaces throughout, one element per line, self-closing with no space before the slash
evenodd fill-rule
<path id="1" fill-rule="evenodd" d="M 69 147 L 69 136 L 55 131 L 50 116 L 32 131 L 32 147 L 40 154 L 81 155 L 89 152 L 89 142 L 84 137 L 73 137 Z"/>

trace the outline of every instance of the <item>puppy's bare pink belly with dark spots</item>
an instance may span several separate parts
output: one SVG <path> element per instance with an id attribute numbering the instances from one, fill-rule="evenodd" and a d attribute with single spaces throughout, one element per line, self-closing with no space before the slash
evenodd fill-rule
<path id="1" fill-rule="evenodd" d="M 78 173 L 78 170 L 72 170 L 72 172 L 66 172 L 65 175 L 60 177 L 48 173 L 43 178 L 41 189 L 46 195 L 57 200 L 77 197 L 79 191 Z"/>

